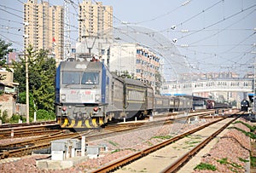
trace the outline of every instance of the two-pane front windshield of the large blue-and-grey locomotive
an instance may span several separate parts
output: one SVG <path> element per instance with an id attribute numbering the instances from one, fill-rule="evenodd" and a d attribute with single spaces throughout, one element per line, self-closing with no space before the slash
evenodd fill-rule
<path id="1" fill-rule="evenodd" d="M 99 84 L 99 72 L 62 72 L 62 84 Z"/>

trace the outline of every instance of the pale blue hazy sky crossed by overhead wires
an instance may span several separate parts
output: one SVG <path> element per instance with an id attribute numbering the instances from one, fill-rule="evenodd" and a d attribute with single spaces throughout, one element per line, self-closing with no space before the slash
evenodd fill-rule
<path id="1" fill-rule="evenodd" d="M 40 1 L 38 1 L 40 2 Z M 49 0 L 63 5 L 62 0 Z M 72 43 L 78 37 L 78 3 L 70 5 Z M 95 1 L 92 1 L 95 2 Z M 103 0 L 113 6 L 113 26 L 135 25 L 152 29 L 174 43 L 193 72 L 252 71 L 256 54 L 255 0 Z M 0 37 L 23 49 L 25 0 L 1 0 Z M 175 29 L 173 26 L 176 26 Z M 139 41 L 141 42 L 141 41 Z M 157 45 L 160 46 L 160 45 Z"/>

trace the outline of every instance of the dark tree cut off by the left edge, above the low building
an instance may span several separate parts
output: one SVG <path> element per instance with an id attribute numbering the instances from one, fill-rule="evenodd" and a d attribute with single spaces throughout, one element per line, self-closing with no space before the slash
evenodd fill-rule
<path id="1" fill-rule="evenodd" d="M 13 49 L 9 49 L 11 45 L 12 43 L 5 43 L 5 41 L 0 38 L 0 67 L 5 67 L 7 70 L 9 70 L 9 68 L 6 66 L 6 55 L 13 51 Z M 3 80 L 4 78 L 5 76 L 0 74 L 0 80 Z"/>

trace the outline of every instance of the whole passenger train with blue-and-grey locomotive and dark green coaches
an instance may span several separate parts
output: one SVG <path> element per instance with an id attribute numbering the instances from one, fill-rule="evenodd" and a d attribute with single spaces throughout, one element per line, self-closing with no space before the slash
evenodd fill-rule
<path id="1" fill-rule="evenodd" d="M 147 83 L 122 78 L 102 61 L 61 61 L 55 76 L 55 114 L 61 128 L 97 128 L 154 112 L 190 110 L 192 97 L 156 95 Z"/>

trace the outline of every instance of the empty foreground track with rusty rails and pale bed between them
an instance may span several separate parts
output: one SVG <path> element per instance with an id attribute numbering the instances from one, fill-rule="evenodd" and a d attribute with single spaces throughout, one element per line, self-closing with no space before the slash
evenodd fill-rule
<path id="1" fill-rule="evenodd" d="M 207 145 L 209 141 L 235 120 L 236 118 L 220 118 L 210 124 L 205 124 L 195 130 L 175 136 L 154 147 L 149 147 L 141 152 L 131 154 L 92 172 L 108 172 L 113 170 L 116 170 L 116 172 L 132 172 L 132 170 L 146 172 L 177 171 L 201 147 Z M 186 139 L 186 136 L 190 136 L 189 140 Z M 177 147 L 188 144 L 190 146 L 178 148 L 177 150 Z"/>

